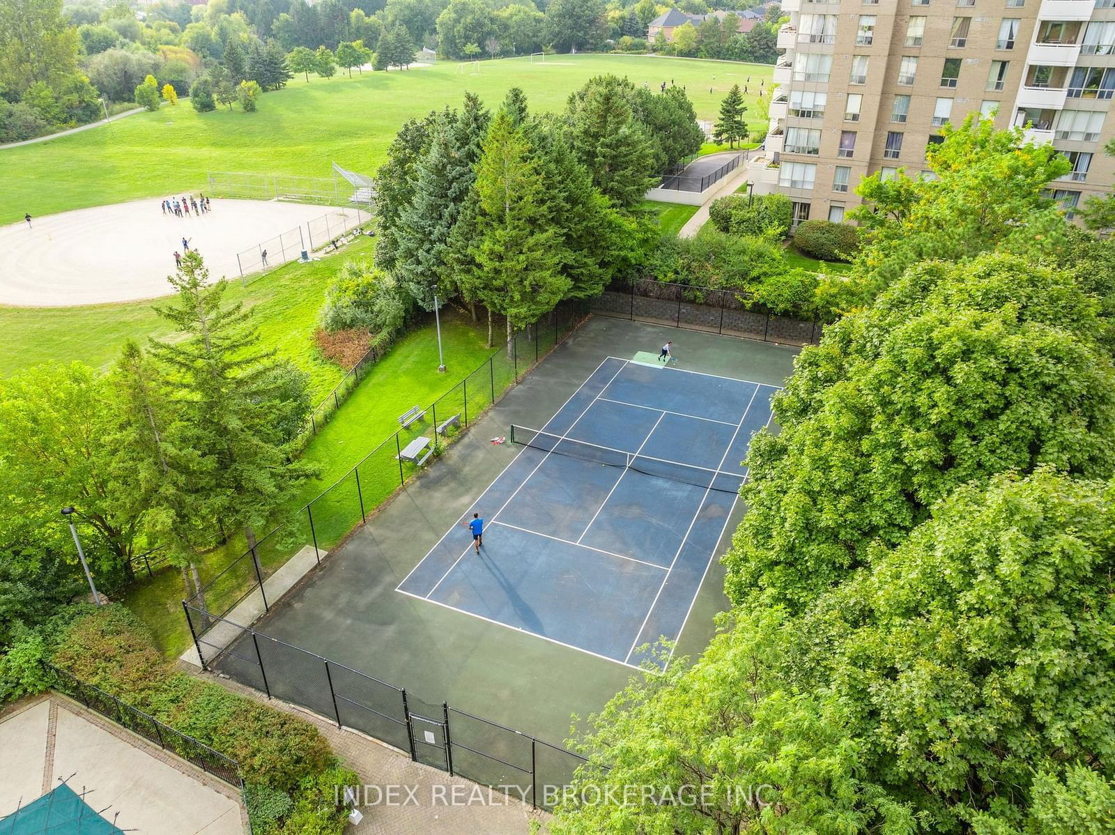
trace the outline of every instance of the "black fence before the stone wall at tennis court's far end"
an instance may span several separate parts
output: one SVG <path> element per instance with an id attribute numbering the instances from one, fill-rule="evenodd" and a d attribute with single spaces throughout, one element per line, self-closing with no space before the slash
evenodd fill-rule
<path id="1" fill-rule="evenodd" d="M 709 290 L 646 279 L 630 287 L 612 285 L 592 300 L 600 315 L 759 339 L 778 344 L 817 344 L 824 324 L 778 315 L 733 290 Z"/>

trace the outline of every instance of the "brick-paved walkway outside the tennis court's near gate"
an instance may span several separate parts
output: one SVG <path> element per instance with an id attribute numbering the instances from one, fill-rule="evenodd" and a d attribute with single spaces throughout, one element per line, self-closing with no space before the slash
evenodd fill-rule
<path id="1" fill-rule="evenodd" d="M 262 693 L 232 679 L 201 673 L 194 667 L 180 669 L 263 705 L 293 713 L 312 724 L 329 740 L 333 753 L 360 775 L 363 819 L 345 832 L 352 835 L 526 835 L 530 822 L 546 832 L 550 815 L 463 777 L 414 763 L 410 756 L 355 730 L 341 730 L 309 710 Z M 387 800 L 392 796 L 395 803 Z M 377 803 L 377 800 L 379 800 Z"/>

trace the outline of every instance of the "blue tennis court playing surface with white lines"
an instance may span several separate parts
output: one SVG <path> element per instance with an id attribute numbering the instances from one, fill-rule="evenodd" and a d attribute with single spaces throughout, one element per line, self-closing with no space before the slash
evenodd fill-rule
<path id="1" fill-rule="evenodd" d="M 681 634 L 777 390 L 609 357 L 513 428 L 524 446 L 398 591 L 638 666 Z"/>

